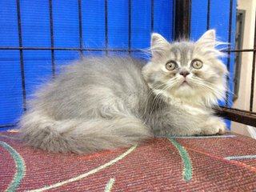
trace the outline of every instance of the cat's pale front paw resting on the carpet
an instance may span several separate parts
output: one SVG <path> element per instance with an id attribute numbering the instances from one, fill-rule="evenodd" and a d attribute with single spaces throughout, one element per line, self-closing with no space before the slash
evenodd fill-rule
<path id="1" fill-rule="evenodd" d="M 221 118 L 208 118 L 204 127 L 202 127 L 202 135 L 224 134 L 226 123 Z"/>

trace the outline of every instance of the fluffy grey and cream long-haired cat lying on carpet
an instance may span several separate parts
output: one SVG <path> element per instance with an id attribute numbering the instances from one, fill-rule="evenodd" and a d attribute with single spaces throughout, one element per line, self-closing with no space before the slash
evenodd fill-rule
<path id="1" fill-rule="evenodd" d="M 151 59 L 83 58 L 42 86 L 19 122 L 23 142 L 91 154 L 156 135 L 222 134 L 212 107 L 225 96 L 226 66 L 215 30 L 196 42 L 151 35 Z"/>

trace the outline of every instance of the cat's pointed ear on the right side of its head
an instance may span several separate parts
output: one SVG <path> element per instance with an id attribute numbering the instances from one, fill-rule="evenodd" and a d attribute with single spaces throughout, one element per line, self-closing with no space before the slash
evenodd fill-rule
<path id="1" fill-rule="evenodd" d="M 216 43 L 215 38 L 215 30 L 207 30 L 206 33 L 202 34 L 202 37 L 198 39 L 196 44 L 214 49 Z"/>

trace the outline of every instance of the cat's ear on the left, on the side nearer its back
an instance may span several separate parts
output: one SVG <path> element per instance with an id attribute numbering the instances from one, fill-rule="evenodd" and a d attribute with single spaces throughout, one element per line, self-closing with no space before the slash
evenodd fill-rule
<path id="1" fill-rule="evenodd" d="M 161 34 L 154 33 L 151 35 L 150 50 L 152 58 L 162 58 L 170 50 L 170 43 Z"/>

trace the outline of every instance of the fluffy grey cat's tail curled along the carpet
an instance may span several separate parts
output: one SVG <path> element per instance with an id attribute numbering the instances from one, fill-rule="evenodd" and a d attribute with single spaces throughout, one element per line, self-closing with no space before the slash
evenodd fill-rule
<path id="1" fill-rule="evenodd" d="M 132 146 L 152 137 L 138 118 L 114 117 L 90 120 L 53 118 L 30 112 L 20 121 L 22 140 L 29 146 L 53 152 L 90 154 Z"/>

